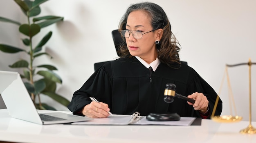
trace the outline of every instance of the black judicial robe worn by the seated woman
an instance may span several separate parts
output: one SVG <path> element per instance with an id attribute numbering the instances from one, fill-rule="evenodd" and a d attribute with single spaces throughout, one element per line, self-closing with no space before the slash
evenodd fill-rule
<path id="1" fill-rule="evenodd" d="M 175 66 L 175 65 L 174 65 Z M 160 63 L 151 72 L 137 58 L 119 58 L 100 67 L 74 92 L 67 106 L 76 115 L 92 102 L 89 96 L 108 104 L 112 114 L 131 115 L 139 112 L 177 113 L 181 117 L 201 117 L 185 100 L 174 98 L 172 103 L 164 102 L 167 83 L 176 85 L 176 93 L 187 96 L 194 92 L 203 93 L 209 100 L 212 113 L 217 94 L 197 72 L 185 63 L 180 68 L 171 68 Z M 151 76 L 151 80 L 150 80 Z M 220 115 L 222 101 L 219 100 L 215 115 Z"/>

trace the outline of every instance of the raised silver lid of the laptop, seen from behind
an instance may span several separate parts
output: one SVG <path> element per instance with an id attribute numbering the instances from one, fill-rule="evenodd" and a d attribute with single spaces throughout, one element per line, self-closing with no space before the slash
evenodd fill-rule
<path id="1" fill-rule="evenodd" d="M 18 72 L 0 71 L 0 94 L 11 117 L 42 124 Z"/>

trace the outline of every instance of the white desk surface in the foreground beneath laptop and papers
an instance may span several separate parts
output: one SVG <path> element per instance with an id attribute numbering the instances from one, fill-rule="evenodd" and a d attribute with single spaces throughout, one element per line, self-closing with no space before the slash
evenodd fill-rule
<path id="1" fill-rule="evenodd" d="M 239 133 L 248 125 L 247 121 L 220 124 L 207 119 L 202 120 L 201 126 L 38 125 L 13 119 L 7 109 L 0 109 L 0 142 L 256 143 L 256 134 Z M 255 127 L 256 122 L 252 122 L 252 126 Z"/>

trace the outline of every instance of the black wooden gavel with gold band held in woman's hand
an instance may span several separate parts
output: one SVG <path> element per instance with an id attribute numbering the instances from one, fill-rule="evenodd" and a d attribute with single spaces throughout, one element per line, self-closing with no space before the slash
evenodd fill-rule
<path id="1" fill-rule="evenodd" d="M 188 98 L 186 96 L 180 95 L 178 93 L 175 93 L 176 85 L 173 83 L 167 83 L 166 88 L 164 90 L 164 101 L 167 103 L 171 103 L 174 101 L 174 97 L 181 98 L 183 100 L 186 100 L 191 103 L 195 103 L 195 100 Z"/>

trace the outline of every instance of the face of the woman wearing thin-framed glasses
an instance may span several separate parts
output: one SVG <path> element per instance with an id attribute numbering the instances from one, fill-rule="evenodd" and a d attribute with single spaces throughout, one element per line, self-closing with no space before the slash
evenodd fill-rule
<path id="1" fill-rule="evenodd" d="M 150 18 L 144 11 L 133 11 L 128 15 L 126 30 L 139 30 L 142 33 L 153 30 L 150 24 Z M 139 56 L 146 62 L 152 62 L 157 57 L 155 41 L 157 34 L 155 31 L 142 35 L 141 39 L 135 39 L 130 33 L 126 38 L 128 50 L 132 56 Z"/>

